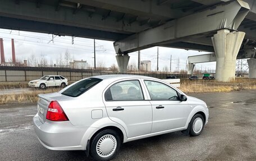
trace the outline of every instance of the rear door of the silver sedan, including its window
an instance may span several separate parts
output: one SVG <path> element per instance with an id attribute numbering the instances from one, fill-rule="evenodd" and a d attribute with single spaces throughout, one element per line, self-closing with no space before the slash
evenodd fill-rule
<path id="1" fill-rule="evenodd" d="M 108 117 L 126 129 L 127 137 L 150 134 L 152 106 L 143 91 L 140 80 L 133 79 L 115 82 L 103 93 Z"/>

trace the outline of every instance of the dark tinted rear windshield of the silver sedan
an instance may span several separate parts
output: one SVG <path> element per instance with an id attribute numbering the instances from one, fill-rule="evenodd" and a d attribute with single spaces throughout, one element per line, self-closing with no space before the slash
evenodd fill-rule
<path id="1" fill-rule="evenodd" d="M 76 97 L 85 93 L 85 91 L 97 85 L 100 81 L 102 81 L 102 79 L 97 79 L 97 78 L 85 79 L 80 82 L 77 82 L 75 85 L 66 89 L 61 94 Z"/>

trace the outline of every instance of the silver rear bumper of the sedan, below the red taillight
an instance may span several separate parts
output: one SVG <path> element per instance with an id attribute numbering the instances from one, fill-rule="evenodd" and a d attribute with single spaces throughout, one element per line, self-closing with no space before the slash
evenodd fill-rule
<path id="1" fill-rule="evenodd" d="M 86 131 L 92 127 L 76 127 L 70 121 L 53 122 L 39 120 L 38 114 L 33 118 L 34 130 L 40 143 L 51 150 L 86 150 Z"/>

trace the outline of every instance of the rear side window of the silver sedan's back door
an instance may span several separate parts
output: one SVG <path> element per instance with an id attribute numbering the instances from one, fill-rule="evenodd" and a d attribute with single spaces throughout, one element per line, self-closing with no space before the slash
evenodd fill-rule
<path id="1" fill-rule="evenodd" d="M 140 82 L 129 80 L 118 82 L 109 88 L 105 93 L 105 99 L 111 100 L 144 100 Z"/>

